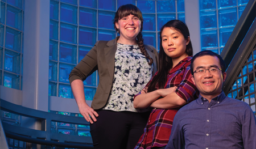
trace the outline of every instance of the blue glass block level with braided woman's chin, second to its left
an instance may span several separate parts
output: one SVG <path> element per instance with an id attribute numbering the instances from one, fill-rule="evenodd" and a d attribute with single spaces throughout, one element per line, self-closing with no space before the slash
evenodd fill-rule
<path id="1" fill-rule="evenodd" d="M 80 27 L 79 44 L 93 46 L 96 42 L 96 29 Z"/>

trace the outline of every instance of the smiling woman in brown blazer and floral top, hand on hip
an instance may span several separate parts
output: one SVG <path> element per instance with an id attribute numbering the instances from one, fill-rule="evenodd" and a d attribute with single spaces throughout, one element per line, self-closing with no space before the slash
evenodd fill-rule
<path id="1" fill-rule="evenodd" d="M 150 109 L 135 109 L 133 97 L 157 70 L 158 54 L 153 46 L 143 44 L 143 18 L 136 6 L 120 6 L 114 28 L 120 36 L 97 41 L 69 75 L 79 112 L 90 122 L 93 146 L 101 149 L 134 148 Z M 89 107 L 82 82 L 96 70 L 99 84 Z"/>

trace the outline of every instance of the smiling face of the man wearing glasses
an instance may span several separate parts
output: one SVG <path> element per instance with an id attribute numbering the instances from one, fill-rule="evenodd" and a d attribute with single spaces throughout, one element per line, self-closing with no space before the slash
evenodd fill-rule
<path id="1" fill-rule="evenodd" d="M 197 57 L 193 62 L 193 67 L 193 71 L 198 69 L 221 68 L 220 61 L 215 56 Z M 209 73 L 207 70 L 203 74 L 194 73 L 192 76 L 192 80 L 194 84 L 196 84 L 201 96 L 209 101 L 220 95 L 222 84 L 225 79 L 226 73 L 222 73 L 220 70 L 218 70 L 217 73 Z"/>

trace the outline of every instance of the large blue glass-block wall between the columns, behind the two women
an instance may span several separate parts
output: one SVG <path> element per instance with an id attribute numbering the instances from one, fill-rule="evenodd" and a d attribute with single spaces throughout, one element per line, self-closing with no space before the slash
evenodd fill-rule
<path id="1" fill-rule="evenodd" d="M 117 35 L 115 11 L 131 3 L 143 13 L 145 44 L 159 47 L 159 31 L 173 19 L 185 22 L 184 0 L 51 0 L 49 31 L 49 96 L 73 98 L 68 75 L 98 40 Z M 85 99 L 92 100 L 98 84 L 97 72 L 84 81 Z"/>

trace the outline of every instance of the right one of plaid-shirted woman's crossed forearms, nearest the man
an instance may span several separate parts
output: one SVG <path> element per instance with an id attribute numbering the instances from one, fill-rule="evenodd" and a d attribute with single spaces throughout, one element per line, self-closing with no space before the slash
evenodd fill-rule
<path id="1" fill-rule="evenodd" d="M 154 101 L 150 107 L 159 108 L 159 109 L 172 109 L 181 107 L 182 105 L 186 104 L 187 101 L 182 99 L 176 92 L 172 92 L 167 96 L 163 97 L 162 99 L 158 99 Z"/>

